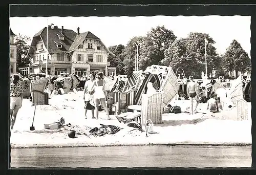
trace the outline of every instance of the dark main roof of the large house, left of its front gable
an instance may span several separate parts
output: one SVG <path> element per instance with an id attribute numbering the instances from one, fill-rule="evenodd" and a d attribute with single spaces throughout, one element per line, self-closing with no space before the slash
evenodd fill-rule
<path id="1" fill-rule="evenodd" d="M 73 30 L 68 30 L 68 29 L 63 29 L 63 35 L 65 36 L 65 40 L 60 40 L 59 36 L 61 35 L 61 29 L 58 29 L 56 26 L 54 26 L 54 29 L 51 29 L 51 26 L 48 27 L 48 51 L 49 52 L 54 52 L 54 53 L 61 53 L 61 52 L 67 52 L 70 48 L 70 46 L 72 45 L 72 43 L 74 42 L 77 33 L 74 32 Z M 47 41 L 47 27 L 43 28 L 42 30 L 40 30 L 37 34 L 35 34 L 33 36 L 31 45 L 35 46 L 37 43 L 37 39 L 38 37 L 41 36 L 42 37 L 42 41 L 45 44 L 45 47 L 47 47 L 46 45 L 46 41 Z M 62 48 L 58 48 L 56 43 L 61 44 Z M 30 47 L 29 49 L 29 53 L 32 53 L 33 48 Z"/>

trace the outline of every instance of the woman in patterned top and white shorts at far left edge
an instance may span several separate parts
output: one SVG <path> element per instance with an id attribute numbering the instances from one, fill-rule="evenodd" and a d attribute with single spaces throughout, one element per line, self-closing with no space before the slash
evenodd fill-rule
<path id="1" fill-rule="evenodd" d="M 13 75 L 12 82 L 10 85 L 10 118 L 11 118 L 11 129 L 16 120 L 16 116 L 20 107 L 22 107 L 23 100 L 23 86 L 18 82 L 19 76 Z"/>

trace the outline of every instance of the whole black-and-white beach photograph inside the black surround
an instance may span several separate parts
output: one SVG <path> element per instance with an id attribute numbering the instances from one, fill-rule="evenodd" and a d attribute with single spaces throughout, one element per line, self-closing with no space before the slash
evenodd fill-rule
<path id="1" fill-rule="evenodd" d="M 11 16 L 10 168 L 251 167 L 250 26 Z"/>

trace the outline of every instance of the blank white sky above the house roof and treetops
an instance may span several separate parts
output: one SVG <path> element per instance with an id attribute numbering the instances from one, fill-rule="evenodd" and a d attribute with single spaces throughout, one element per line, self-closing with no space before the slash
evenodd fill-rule
<path id="1" fill-rule="evenodd" d="M 250 16 L 120 16 L 120 17 L 11 17 L 10 27 L 14 34 L 32 37 L 47 24 L 80 33 L 90 31 L 101 39 L 106 47 L 126 46 L 134 36 L 145 36 L 151 28 L 164 26 L 178 38 L 189 32 L 208 33 L 216 43 L 217 53 L 224 54 L 236 39 L 250 56 Z M 30 43 L 29 43 L 30 45 Z"/>

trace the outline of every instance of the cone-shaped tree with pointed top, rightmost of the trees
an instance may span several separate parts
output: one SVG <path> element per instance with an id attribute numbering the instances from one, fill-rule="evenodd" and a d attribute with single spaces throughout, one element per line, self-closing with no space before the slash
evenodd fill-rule
<path id="1" fill-rule="evenodd" d="M 230 43 L 230 46 L 226 49 L 224 58 L 226 72 L 236 71 L 236 76 L 238 76 L 238 71 L 242 73 L 250 71 L 251 60 L 237 40 L 234 39 Z"/>

